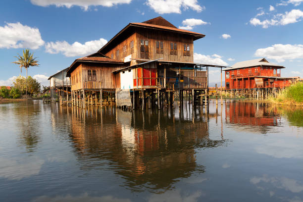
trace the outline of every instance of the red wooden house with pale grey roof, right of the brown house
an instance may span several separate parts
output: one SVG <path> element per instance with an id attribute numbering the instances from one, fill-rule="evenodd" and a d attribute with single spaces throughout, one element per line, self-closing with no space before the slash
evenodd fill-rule
<path id="1" fill-rule="evenodd" d="M 237 62 L 224 70 L 225 87 L 227 90 L 284 88 L 291 85 L 291 78 L 281 77 L 283 68 L 265 58 Z"/>

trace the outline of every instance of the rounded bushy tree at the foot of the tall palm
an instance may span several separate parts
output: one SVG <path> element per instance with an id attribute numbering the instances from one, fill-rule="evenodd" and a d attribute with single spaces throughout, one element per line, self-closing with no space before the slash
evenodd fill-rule
<path id="1" fill-rule="evenodd" d="M 24 90 L 26 89 L 26 79 L 23 76 L 18 76 L 16 80 L 13 82 L 14 88 L 18 89 L 21 94 L 24 94 Z M 39 93 L 41 90 L 40 83 L 33 79 L 31 76 L 27 78 L 28 92 L 30 94 Z"/>

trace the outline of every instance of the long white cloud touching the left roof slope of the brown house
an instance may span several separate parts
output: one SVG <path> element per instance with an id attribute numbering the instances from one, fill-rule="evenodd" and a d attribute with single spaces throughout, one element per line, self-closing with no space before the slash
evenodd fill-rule
<path id="1" fill-rule="evenodd" d="M 66 41 L 57 41 L 48 42 L 45 45 L 45 49 L 46 52 L 49 52 L 51 54 L 61 52 L 67 57 L 85 56 L 101 49 L 106 43 L 107 41 L 105 39 L 89 41 L 85 42 L 84 44 L 81 44 L 79 42 L 69 44 Z"/>

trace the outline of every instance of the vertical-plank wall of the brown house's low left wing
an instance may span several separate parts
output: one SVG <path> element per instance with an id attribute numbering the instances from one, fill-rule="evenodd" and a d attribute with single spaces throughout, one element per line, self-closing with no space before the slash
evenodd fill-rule
<path id="1" fill-rule="evenodd" d="M 82 63 L 73 72 L 71 77 L 77 73 L 81 75 L 81 80 L 78 83 L 73 83 L 72 91 L 82 89 L 115 89 L 120 88 L 120 83 L 117 82 L 115 74 L 112 71 L 125 67 L 122 64 L 97 64 L 97 63 Z M 96 76 L 91 76 L 89 79 L 88 70 L 96 70 Z M 120 80 L 120 79 L 119 79 Z M 80 82 L 80 83 L 79 83 Z"/>

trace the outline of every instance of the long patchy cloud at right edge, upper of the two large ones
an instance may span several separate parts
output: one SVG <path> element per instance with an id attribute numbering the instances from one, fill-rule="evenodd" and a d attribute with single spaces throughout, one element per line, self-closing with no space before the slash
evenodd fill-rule
<path id="1" fill-rule="evenodd" d="M 285 12 L 284 14 L 279 13 L 273 16 L 272 19 L 260 20 L 256 17 L 250 20 L 251 25 L 253 26 L 262 26 L 263 28 L 268 28 L 269 26 L 276 25 L 287 25 L 291 23 L 296 23 L 301 21 L 303 18 L 303 11 L 299 9 L 293 9 L 290 12 Z"/>

